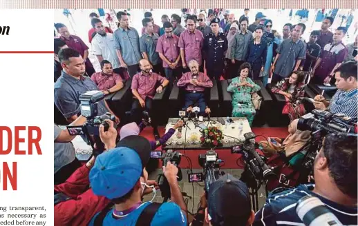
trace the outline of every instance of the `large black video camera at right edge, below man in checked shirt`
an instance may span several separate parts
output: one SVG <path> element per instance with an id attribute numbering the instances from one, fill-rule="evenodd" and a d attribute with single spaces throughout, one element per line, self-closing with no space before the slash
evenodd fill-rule
<path id="1" fill-rule="evenodd" d="M 356 119 L 355 119 L 356 120 Z M 357 121 L 342 114 L 332 114 L 322 110 L 312 110 L 299 119 L 297 129 L 301 131 L 329 133 L 357 133 Z"/>

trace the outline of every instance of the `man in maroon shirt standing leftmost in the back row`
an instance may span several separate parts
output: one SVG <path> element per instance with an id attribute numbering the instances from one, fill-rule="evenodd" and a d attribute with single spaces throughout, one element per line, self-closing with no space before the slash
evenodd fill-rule
<path id="1" fill-rule="evenodd" d="M 70 34 L 70 32 L 68 32 L 68 28 L 63 23 L 56 23 L 55 28 L 57 32 L 61 34 L 61 37 L 59 38 L 62 39 L 69 48 L 73 48 L 81 54 L 85 61 L 87 75 L 91 76 L 95 73 L 95 69 L 93 68 L 91 61 L 88 59 L 88 46 L 84 43 L 84 41 L 82 41 L 81 38 Z"/>

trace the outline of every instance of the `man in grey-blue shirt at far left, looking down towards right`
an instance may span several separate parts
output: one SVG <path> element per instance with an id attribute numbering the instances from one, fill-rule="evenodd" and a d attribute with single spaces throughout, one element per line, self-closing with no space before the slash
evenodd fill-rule
<path id="1" fill-rule="evenodd" d="M 93 81 L 84 76 L 86 68 L 84 59 L 76 50 L 64 48 L 59 51 L 59 61 L 62 65 L 62 76 L 55 83 L 55 105 L 68 122 L 73 122 L 81 114 L 79 96 L 91 90 L 98 90 Z M 98 115 L 111 112 L 105 101 L 97 104 Z M 113 114 L 115 115 L 115 114 Z M 120 120 L 115 117 L 115 122 Z"/>

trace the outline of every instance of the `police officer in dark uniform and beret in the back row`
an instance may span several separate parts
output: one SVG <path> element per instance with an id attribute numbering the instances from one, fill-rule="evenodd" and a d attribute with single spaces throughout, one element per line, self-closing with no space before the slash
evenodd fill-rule
<path id="1" fill-rule="evenodd" d="M 219 80 L 223 74 L 225 52 L 227 51 L 227 38 L 224 33 L 219 32 L 220 19 L 217 17 L 211 20 L 211 33 L 204 38 L 204 46 L 202 48 L 205 56 L 205 68 L 207 76 L 210 79 Z"/>

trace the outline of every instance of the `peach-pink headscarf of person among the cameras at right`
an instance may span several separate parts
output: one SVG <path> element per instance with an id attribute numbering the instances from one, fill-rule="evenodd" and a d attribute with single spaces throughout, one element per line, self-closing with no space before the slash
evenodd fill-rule
<path id="1" fill-rule="evenodd" d="M 286 156 L 290 156 L 299 151 L 310 140 L 310 131 L 301 131 L 297 129 L 299 119 L 295 119 L 288 125 L 288 132 L 290 133 L 285 141 L 282 143 L 282 148 L 285 150 Z"/>

